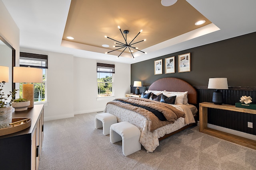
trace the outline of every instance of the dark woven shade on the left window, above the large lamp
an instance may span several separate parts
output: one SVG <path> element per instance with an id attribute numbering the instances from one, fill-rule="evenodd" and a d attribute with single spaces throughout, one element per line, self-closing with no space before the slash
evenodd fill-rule
<path id="1" fill-rule="evenodd" d="M 20 66 L 48 68 L 48 55 L 20 52 Z"/>

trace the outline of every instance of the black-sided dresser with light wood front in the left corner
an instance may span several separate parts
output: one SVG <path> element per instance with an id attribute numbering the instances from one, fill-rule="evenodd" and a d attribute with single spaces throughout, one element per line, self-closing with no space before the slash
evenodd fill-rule
<path id="1" fill-rule="evenodd" d="M 44 105 L 14 111 L 12 117 L 28 117 L 31 126 L 0 137 L 0 169 L 37 170 L 44 139 Z"/>

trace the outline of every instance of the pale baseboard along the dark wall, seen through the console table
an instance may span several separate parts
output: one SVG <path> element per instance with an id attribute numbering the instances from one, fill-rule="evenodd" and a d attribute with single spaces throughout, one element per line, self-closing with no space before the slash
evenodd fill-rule
<path id="1" fill-rule="evenodd" d="M 199 121 L 198 121 L 197 125 L 199 126 Z M 244 138 L 252 139 L 252 140 L 256 141 L 256 135 L 251 135 L 249 133 L 235 131 L 233 129 L 228 129 L 228 128 L 225 128 L 225 127 L 216 126 L 216 125 L 212 125 L 212 124 L 209 124 L 209 123 L 207 124 L 207 127 L 211 128 L 211 129 L 215 129 L 215 130 L 218 130 L 218 131 L 230 133 L 232 135 L 236 135 L 236 136 L 240 136 L 240 137 L 244 137 Z"/>

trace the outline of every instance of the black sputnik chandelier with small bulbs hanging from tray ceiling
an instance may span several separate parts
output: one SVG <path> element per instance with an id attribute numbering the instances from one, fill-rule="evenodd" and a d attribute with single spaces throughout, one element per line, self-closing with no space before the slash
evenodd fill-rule
<path id="1" fill-rule="evenodd" d="M 119 29 L 120 32 L 122 33 L 122 30 L 121 30 L 121 28 L 120 28 L 119 26 L 118 26 L 118 29 Z M 141 32 L 142 32 L 142 30 L 140 30 L 140 32 L 134 37 L 134 39 L 135 39 Z M 107 37 L 107 36 L 105 35 L 106 38 L 109 38 L 109 39 L 112 39 L 112 40 L 116 41 L 115 44 L 117 44 L 117 45 L 114 45 L 113 47 L 120 47 L 120 48 L 118 48 L 118 49 L 115 49 L 115 50 L 106 52 L 105 54 L 111 53 L 111 52 L 113 52 L 113 51 L 116 51 L 116 50 L 119 50 L 119 49 L 122 49 L 122 48 L 124 48 L 124 50 L 126 50 L 126 49 L 128 48 L 128 49 L 129 49 L 129 52 L 130 52 L 131 54 L 132 54 L 132 52 L 133 52 L 131 49 L 136 49 L 137 51 L 140 51 L 137 47 L 133 47 L 132 45 L 137 44 L 137 43 L 140 43 L 140 42 L 142 42 L 142 41 L 146 41 L 146 39 L 141 40 L 141 41 L 138 41 L 138 42 L 136 42 L 136 43 L 132 43 L 132 42 L 134 41 L 134 39 L 133 39 L 133 40 L 128 44 L 127 41 L 126 41 L 126 40 L 127 40 L 127 34 L 128 34 L 128 33 L 129 33 L 128 30 L 124 30 L 125 37 L 124 37 L 124 34 L 122 33 L 122 36 L 124 37 L 125 43 L 121 43 L 120 41 L 117 41 L 117 40 L 112 39 L 112 38 L 110 38 L 110 37 Z M 122 51 L 122 53 L 124 52 L 124 50 Z M 143 51 L 140 51 L 140 52 L 145 53 L 145 52 L 143 52 Z M 122 53 L 120 53 L 120 55 L 121 55 Z M 145 53 L 145 54 L 146 54 L 146 53 Z M 118 55 L 118 57 L 119 57 L 120 55 Z M 117 58 L 118 58 L 118 57 L 117 57 Z M 134 58 L 133 54 L 132 54 L 132 57 Z"/>

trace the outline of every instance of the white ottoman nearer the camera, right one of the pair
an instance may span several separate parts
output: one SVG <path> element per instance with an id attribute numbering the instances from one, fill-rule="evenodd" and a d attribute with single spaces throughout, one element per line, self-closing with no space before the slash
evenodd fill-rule
<path id="1" fill-rule="evenodd" d="M 110 142 L 122 140 L 124 156 L 128 156 L 141 149 L 140 129 L 127 121 L 115 123 L 110 126 Z"/>

